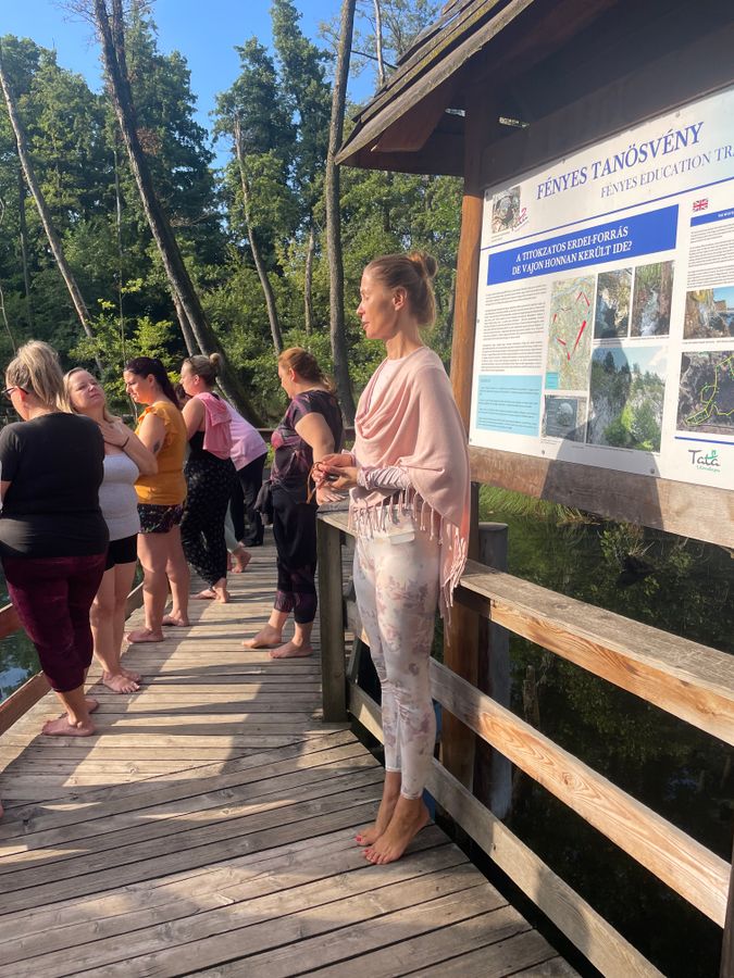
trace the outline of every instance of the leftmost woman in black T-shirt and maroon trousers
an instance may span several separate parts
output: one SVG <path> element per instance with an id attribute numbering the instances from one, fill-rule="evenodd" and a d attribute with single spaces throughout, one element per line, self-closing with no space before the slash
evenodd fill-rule
<path id="1" fill-rule="evenodd" d="M 63 377 L 47 343 L 21 347 L 5 396 L 22 422 L 0 434 L 0 553 L 11 600 L 64 707 L 42 732 L 89 737 L 97 702 L 84 695 L 91 662 L 89 609 L 104 573 L 99 427 L 62 410 Z"/>

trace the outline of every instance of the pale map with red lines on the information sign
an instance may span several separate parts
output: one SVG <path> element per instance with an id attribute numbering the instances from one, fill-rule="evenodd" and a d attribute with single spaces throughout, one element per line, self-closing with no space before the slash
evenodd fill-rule
<path id="1" fill-rule="evenodd" d="M 593 275 L 553 283 L 550 293 L 547 387 L 584 390 L 588 386 L 593 302 Z"/>

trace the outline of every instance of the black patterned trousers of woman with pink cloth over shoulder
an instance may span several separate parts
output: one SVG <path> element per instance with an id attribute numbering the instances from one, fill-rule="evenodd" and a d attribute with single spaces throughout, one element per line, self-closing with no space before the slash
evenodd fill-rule
<path id="1" fill-rule="evenodd" d="M 235 484 L 235 466 L 231 459 L 197 452 L 186 463 L 184 473 L 188 493 L 181 542 L 186 560 L 211 587 L 227 576 L 224 517 Z"/>

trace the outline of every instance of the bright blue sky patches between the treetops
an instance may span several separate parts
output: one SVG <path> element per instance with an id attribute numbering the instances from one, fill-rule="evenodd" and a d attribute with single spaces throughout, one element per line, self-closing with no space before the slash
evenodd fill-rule
<path id="1" fill-rule="evenodd" d="M 320 47 L 319 25 L 338 16 L 340 0 L 296 0 L 301 30 Z M 198 97 L 197 117 L 209 127 L 209 112 L 217 92 L 237 76 L 239 59 L 234 50 L 253 35 L 272 41 L 269 0 L 155 0 L 153 20 L 161 51 L 178 50 L 191 72 L 191 90 Z M 55 48 L 59 64 L 82 73 L 90 87 L 101 87 L 98 47 L 89 24 L 63 10 L 58 0 L 0 0 L 0 36 L 29 37 L 42 47 Z M 372 90 L 371 72 L 350 87 L 350 96 L 365 99 Z"/>

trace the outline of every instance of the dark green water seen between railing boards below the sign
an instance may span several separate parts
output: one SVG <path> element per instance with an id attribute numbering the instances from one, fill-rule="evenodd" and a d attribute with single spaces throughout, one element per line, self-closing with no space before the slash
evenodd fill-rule
<path id="1" fill-rule="evenodd" d="M 482 490 L 482 518 L 509 525 L 511 574 L 734 652 L 727 551 L 568 517 L 558 506 Z M 512 636 L 510 648 L 515 713 L 731 861 L 734 776 L 724 743 L 525 639 Z M 718 975 L 721 929 L 518 773 L 508 824 L 663 974 Z"/>

